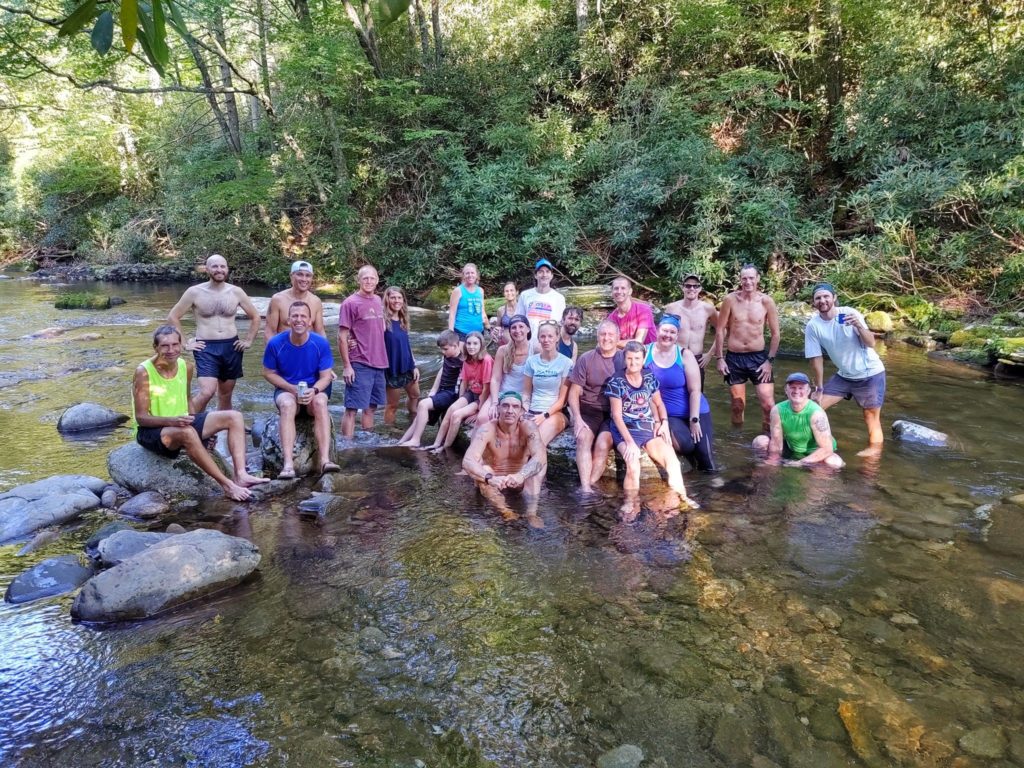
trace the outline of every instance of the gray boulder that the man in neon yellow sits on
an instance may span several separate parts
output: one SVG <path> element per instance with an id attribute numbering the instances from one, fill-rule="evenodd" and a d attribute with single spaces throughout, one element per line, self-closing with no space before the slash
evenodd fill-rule
<path id="1" fill-rule="evenodd" d="M 212 456 L 222 465 L 216 454 Z M 225 467 L 221 468 L 230 476 Z M 106 457 L 106 470 L 114 482 L 135 494 L 159 490 L 167 497 L 204 499 L 223 493 L 184 452 L 178 454 L 177 459 L 165 459 L 134 441 L 111 452 Z"/>

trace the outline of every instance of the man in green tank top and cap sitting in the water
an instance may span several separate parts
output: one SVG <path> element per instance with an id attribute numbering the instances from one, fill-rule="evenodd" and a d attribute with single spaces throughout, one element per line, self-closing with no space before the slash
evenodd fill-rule
<path id="1" fill-rule="evenodd" d="M 836 453 L 824 409 L 811 399 L 811 380 L 807 374 L 790 374 L 785 380 L 785 399 L 769 416 L 771 436 L 754 438 L 755 452 L 766 455 L 769 464 L 806 467 L 824 464 L 836 469 L 844 466 Z"/>

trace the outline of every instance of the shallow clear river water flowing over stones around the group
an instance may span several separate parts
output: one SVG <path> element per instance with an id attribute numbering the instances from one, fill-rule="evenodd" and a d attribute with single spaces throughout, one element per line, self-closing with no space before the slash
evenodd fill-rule
<path id="1" fill-rule="evenodd" d="M 56 419 L 128 410 L 181 289 L 101 286 L 127 303 L 57 311 L 81 286 L 0 282 L 0 490 L 105 476 L 127 430 L 66 440 Z M 433 372 L 441 319 L 413 323 Z M 65 332 L 27 338 L 49 327 Z M 236 393 L 250 419 L 271 408 L 259 357 Z M 258 544 L 258 579 L 113 629 L 74 624 L 70 597 L 0 605 L 0 764 L 593 766 L 628 743 L 671 768 L 1024 766 L 1024 509 L 1005 501 L 1024 490 L 1024 389 L 902 346 L 885 360 L 886 427 L 910 418 L 951 447 L 890 441 L 865 462 L 841 403 L 846 469 L 757 467 L 753 403 L 730 428 L 710 376 L 723 469 L 686 475 L 703 508 L 675 518 L 652 488 L 617 521 L 611 479 L 582 501 L 559 449 L 545 528 L 504 522 L 458 457 L 384 430 L 346 446 L 351 489 L 326 518 L 298 509 L 311 482 L 179 513 Z M 27 557 L 0 547 L 0 588 L 105 519 Z"/>

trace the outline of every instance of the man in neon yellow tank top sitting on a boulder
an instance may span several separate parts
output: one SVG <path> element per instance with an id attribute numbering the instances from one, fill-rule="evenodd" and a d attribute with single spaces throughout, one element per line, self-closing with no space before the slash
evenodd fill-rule
<path id="1" fill-rule="evenodd" d="M 174 459 L 182 451 L 237 502 L 249 499 L 249 488 L 270 480 L 246 471 L 246 426 L 238 411 L 193 414 L 189 397 L 195 369 L 181 359 L 181 333 L 161 326 L 153 334 L 156 354 L 135 369 L 132 417 L 135 440 L 159 456 Z M 227 430 L 227 446 L 234 466 L 229 478 L 203 446 L 203 440 Z"/>

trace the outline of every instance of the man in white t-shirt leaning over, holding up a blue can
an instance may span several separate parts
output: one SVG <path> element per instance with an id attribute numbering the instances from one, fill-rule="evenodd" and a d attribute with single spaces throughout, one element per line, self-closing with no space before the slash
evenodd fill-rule
<path id="1" fill-rule="evenodd" d="M 867 447 L 858 456 L 882 453 L 882 403 L 886 398 L 886 367 L 874 351 L 874 334 L 867 328 L 864 315 L 848 306 L 837 306 L 836 289 L 819 283 L 811 294 L 818 313 L 804 329 L 804 356 L 811 361 L 814 392 L 811 398 L 827 409 L 851 397 L 864 412 L 867 426 Z M 822 386 L 823 354 L 839 369 Z"/>

